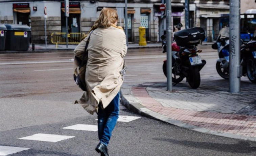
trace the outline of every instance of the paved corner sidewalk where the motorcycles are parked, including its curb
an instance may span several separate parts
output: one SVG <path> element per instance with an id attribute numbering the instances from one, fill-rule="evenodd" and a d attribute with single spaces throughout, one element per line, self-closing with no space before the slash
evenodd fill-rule
<path id="1" fill-rule="evenodd" d="M 202 133 L 256 141 L 256 87 L 244 77 L 241 93 L 228 92 L 229 81 L 203 79 L 198 89 L 185 81 L 166 91 L 165 82 L 122 88 L 129 110 Z"/>

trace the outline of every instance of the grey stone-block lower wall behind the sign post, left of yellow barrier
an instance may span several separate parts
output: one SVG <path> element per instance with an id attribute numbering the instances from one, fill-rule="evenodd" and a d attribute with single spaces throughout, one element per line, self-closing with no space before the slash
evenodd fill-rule
<path id="1" fill-rule="evenodd" d="M 31 17 L 31 39 L 33 43 L 45 42 L 44 17 Z M 51 34 L 61 32 L 61 17 L 46 18 L 47 43 L 51 41 Z"/>

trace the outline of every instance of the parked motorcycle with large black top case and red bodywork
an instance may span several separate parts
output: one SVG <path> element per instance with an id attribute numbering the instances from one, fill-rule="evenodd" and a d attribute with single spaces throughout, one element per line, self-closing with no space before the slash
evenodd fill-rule
<path id="1" fill-rule="evenodd" d="M 166 35 L 162 35 L 163 53 L 166 52 Z M 196 46 L 205 39 L 205 31 L 200 27 L 184 29 L 174 33 L 172 42 L 172 82 L 179 83 L 186 77 L 191 88 L 198 88 L 201 83 L 200 70 L 206 64 L 197 53 Z M 167 76 L 167 63 L 163 63 L 163 72 Z"/>

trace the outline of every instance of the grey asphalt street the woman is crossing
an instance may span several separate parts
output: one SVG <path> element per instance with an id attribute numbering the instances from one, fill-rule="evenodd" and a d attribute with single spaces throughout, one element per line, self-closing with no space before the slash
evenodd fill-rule
<path id="1" fill-rule="evenodd" d="M 219 78 L 217 52 L 202 46 L 207 64 L 202 79 Z M 0 55 L 0 155 L 1 146 L 27 150 L 13 156 L 97 156 L 96 131 L 63 129 L 76 124 L 97 125 L 77 104 L 82 95 L 72 77 L 71 51 Z M 123 86 L 165 82 L 162 49 L 134 49 L 125 57 Z M 242 79 L 242 81 L 247 81 Z M 110 156 L 255 156 L 256 143 L 199 133 L 138 116 L 120 106 L 122 116 L 141 117 L 118 122 L 110 144 Z M 92 126 L 91 126 L 92 127 Z M 74 136 L 59 142 L 20 139 L 34 134 Z"/>

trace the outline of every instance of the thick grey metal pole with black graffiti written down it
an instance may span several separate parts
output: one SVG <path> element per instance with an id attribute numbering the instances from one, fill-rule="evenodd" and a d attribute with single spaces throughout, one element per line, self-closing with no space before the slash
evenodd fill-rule
<path id="1" fill-rule="evenodd" d="M 230 0 L 230 37 L 229 37 L 229 92 L 240 92 L 240 0 Z"/>

